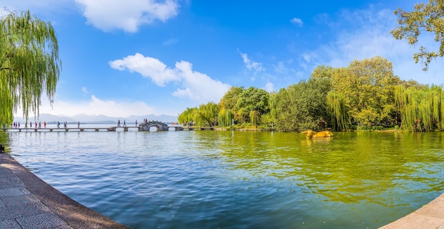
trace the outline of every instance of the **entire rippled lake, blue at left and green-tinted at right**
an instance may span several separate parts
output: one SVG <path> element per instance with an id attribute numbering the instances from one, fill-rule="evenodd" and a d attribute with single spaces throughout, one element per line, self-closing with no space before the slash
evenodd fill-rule
<path id="1" fill-rule="evenodd" d="M 444 133 L 1 133 L 18 162 L 131 228 L 378 228 L 444 191 Z"/>

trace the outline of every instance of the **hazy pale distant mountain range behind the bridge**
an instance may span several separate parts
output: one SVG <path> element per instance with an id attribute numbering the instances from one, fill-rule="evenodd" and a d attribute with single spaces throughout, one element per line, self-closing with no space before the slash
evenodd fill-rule
<path id="1" fill-rule="evenodd" d="M 126 121 L 126 123 L 142 123 L 143 119 L 148 119 L 148 121 L 161 121 L 163 123 L 175 123 L 177 122 L 177 116 L 155 116 L 155 115 L 146 115 L 146 116 L 128 116 L 128 117 L 110 117 L 110 116 L 92 116 L 87 114 L 77 114 L 75 116 L 54 116 L 49 113 L 40 113 L 38 118 L 34 118 L 34 116 L 30 116 L 28 118 L 29 121 L 45 121 L 46 123 L 57 123 L 57 121 L 67 122 L 67 123 L 91 123 L 91 124 L 114 124 L 120 120 L 122 123 Z M 14 117 L 14 121 L 25 123 L 25 119 L 23 117 Z"/>

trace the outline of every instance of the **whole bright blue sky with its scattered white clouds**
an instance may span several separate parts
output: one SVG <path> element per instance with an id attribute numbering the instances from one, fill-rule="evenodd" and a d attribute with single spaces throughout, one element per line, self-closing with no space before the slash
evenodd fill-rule
<path id="1" fill-rule="evenodd" d="M 401 79 L 443 84 L 406 40 L 389 33 L 394 1 L 2 0 L 57 31 L 62 72 L 52 108 L 40 113 L 177 116 L 218 103 L 231 86 L 267 91 L 309 79 L 318 65 L 346 67 L 380 55 Z M 436 48 L 429 35 L 421 44 Z M 20 112 L 20 111 L 19 111 Z"/>

